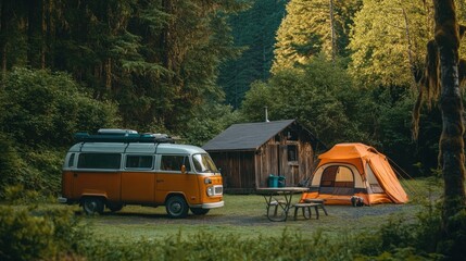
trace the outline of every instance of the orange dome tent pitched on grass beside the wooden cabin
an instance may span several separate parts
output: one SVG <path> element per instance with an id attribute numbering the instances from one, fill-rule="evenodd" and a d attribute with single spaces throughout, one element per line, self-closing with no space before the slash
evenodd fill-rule
<path id="1" fill-rule="evenodd" d="M 320 154 L 303 199 L 326 199 L 326 204 L 351 204 L 357 196 L 365 204 L 405 203 L 407 195 L 386 156 L 363 144 L 338 144 Z"/>

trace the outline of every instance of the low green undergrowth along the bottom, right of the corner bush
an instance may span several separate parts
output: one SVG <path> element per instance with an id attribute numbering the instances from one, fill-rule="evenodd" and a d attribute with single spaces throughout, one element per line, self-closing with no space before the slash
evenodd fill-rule
<path id="1" fill-rule="evenodd" d="M 341 233 L 329 238 L 289 233 L 279 237 L 240 239 L 231 234 L 200 232 L 182 238 L 181 232 L 166 238 L 137 241 L 86 241 L 80 254 L 99 260 L 438 260 L 442 256 L 416 248 L 412 225 L 401 220 L 380 231 L 364 234 Z M 407 228 L 407 231 L 405 231 Z"/>

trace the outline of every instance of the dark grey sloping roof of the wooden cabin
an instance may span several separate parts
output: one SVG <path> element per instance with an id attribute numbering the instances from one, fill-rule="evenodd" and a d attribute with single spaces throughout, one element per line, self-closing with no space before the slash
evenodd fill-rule
<path id="1" fill-rule="evenodd" d="M 294 120 L 234 124 L 202 148 L 206 151 L 257 150 Z"/>

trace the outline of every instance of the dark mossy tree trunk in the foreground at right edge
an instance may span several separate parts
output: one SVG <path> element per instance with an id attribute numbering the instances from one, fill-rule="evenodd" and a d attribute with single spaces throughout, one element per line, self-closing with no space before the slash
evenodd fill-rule
<path id="1" fill-rule="evenodd" d="M 458 83 L 459 32 L 454 0 L 433 0 L 436 42 L 440 54 L 442 135 L 440 163 L 444 179 L 442 211 L 443 232 L 446 238 L 456 232 L 451 217 L 466 207 L 463 103 Z"/>

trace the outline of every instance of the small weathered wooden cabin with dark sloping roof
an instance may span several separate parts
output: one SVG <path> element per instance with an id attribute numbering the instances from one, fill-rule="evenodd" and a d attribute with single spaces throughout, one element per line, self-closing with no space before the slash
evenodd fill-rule
<path id="1" fill-rule="evenodd" d="M 312 174 L 318 140 L 295 120 L 234 124 L 203 146 L 222 170 L 226 192 L 267 187 L 268 176 L 297 186 Z"/>

